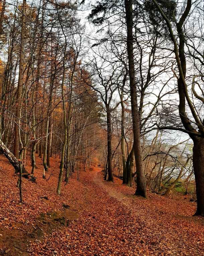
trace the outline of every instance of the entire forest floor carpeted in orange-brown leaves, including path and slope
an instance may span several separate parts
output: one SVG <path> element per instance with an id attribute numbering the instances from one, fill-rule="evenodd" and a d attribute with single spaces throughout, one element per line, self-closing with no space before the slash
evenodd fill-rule
<path id="1" fill-rule="evenodd" d="M 37 183 L 23 178 L 20 204 L 18 177 L 0 155 L 0 256 L 204 255 L 204 218 L 192 216 L 189 196 L 133 196 L 118 178 L 104 181 L 97 167 L 81 171 L 79 181 L 73 173 L 58 196 L 60 159 L 50 160 L 43 180 L 36 157 Z"/>

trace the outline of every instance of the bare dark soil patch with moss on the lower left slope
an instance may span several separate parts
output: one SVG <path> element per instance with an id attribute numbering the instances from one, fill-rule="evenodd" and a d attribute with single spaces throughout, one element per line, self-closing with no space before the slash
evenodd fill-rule
<path id="1" fill-rule="evenodd" d="M 75 201 L 74 207 L 63 205 L 64 211 L 40 213 L 33 223 L 16 223 L 13 229 L 0 229 L 0 256 L 28 256 L 27 248 L 31 243 L 76 223 L 79 213 L 86 210 L 88 204 Z"/>

